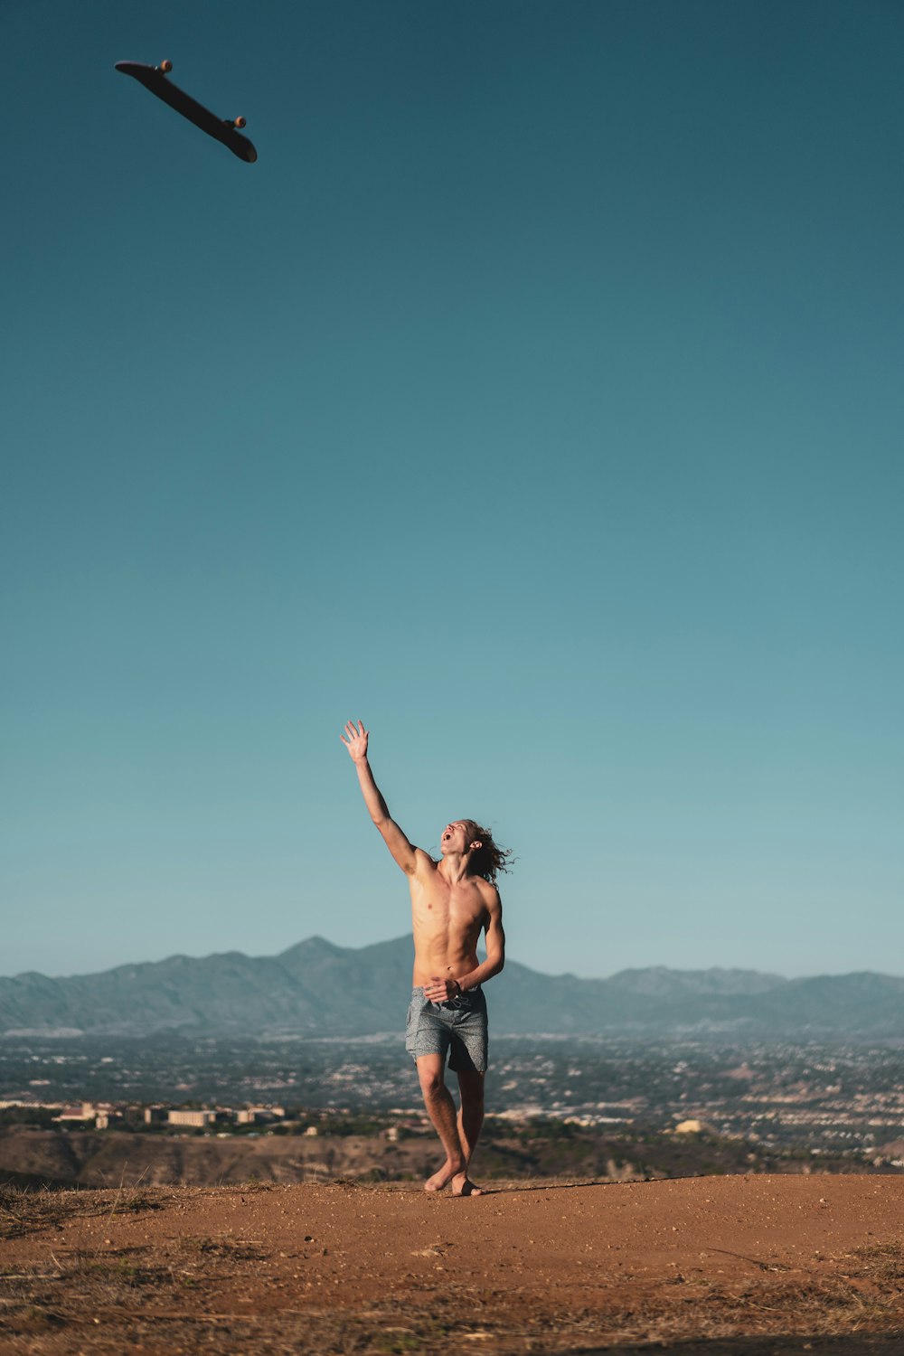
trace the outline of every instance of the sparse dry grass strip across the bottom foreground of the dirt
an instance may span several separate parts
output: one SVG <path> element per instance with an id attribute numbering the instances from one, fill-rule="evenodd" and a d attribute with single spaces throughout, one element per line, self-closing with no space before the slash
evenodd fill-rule
<path id="1" fill-rule="evenodd" d="M 178 1256 L 165 1264 L 145 1252 L 119 1250 L 102 1258 L 76 1254 L 53 1272 L 7 1276 L 0 1333 L 27 1340 L 22 1351 L 54 1356 L 72 1349 L 66 1342 L 76 1333 L 79 1349 L 99 1353 L 165 1336 L 168 1342 L 202 1351 L 253 1344 L 262 1356 L 286 1351 L 405 1356 L 462 1347 L 495 1356 L 537 1351 L 552 1356 L 594 1352 L 603 1344 L 657 1344 L 661 1351 L 665 1344 L 717 1345 L 770 1334 L 819 1341 L 855 1334 L 890 1338 L 904 1332 L 904 1246 L 897 1243 L 851 1254 L 843 1258 L 847 1272 L 821 1280 L 782 1275 L 721 1287 L 676 1276 L 645 1294 L 603 1292 L 595 1307 L 562 1313 L 549 1304 L 519 1306 L 516 1296 L 503 1306 L 497 1295 L 450 1284 L 443 1294 L 388 1299 L 356 1314 L 274 1306 L 247 1317 L 221 1310 L 234 1310 L 236 1300 L 240 1304 L 243 1281 L 260 1281 L 267 1253 L 259 1243 L 234 1237 L 184 1238 Z M 232 1303 L 224 1303 L 224 1280 L 230 1283 Z M 800 1342 L 797 1349 L 804 1349 Z"/>

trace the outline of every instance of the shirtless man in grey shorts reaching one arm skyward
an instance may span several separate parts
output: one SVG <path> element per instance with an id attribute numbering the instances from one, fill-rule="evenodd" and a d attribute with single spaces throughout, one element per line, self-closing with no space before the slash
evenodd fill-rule
<path id="1" fill-rule="evenodd" d="M 367 762 L 367 731 L 358 721 L 339 736 L 351 754 L 370 818 L 408 876 L 415 933 L 413 993 L 405 1048 L 417 1066 L 424 1105 L 446 1151 L 446 1162 L 424 1185 L 453 1196 L 480 1196 L 468 1165 L 484 1123 L 487 999 L 481 984 L 503 968 L 503 906 L 493 884 L 508 853 L 473 819 L 457 819 L 442 833 L 440 861 L 412 848 L 390 818 Z M 487 934 L 487 960 L 477 960 L 477 938 Z M 449 1067 L 458 1075 L 461 1111 L 446 1088 Z"/>

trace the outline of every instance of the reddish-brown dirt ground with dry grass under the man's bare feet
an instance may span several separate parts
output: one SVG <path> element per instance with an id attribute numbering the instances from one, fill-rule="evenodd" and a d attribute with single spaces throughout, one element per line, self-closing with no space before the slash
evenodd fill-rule
<path id="1" fill-rule="evenodd" d="M 904 1180 L 0 1195 L 0 1352 L 904 1356 Z"/>

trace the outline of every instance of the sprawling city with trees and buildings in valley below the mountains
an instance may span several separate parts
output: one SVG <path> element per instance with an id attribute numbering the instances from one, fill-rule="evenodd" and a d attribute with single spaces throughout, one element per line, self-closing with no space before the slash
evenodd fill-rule
<path id="1" fill-rule="evenodd" d="M 488 1170 L 904 1172 L 897 1044 L 499 1037 L 488 1109 Z M 427 1132 L 413 1067 L 389 1037 L 8 1037 L 0 1173 L 19 1170 L 24 1127 L 384 1143 Z M 493 1158 L 512 1143 L 531 1151 Z M 362 1159 L 362 1172 L 378 1166 Z"/>

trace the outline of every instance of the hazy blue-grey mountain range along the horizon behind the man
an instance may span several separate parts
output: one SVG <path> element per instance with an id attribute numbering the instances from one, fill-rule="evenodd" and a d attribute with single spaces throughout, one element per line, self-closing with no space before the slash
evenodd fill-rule
<path id="1" fill-rule="evenodd" d="M 279 956 L 171 956 L 96 975 L 0 979 L 0 1033 L 361 1036 L 397 1032 L 409 937 L 358 949 L 309 937 Z M 508 961 L 488 987 L 497 1033 L 904 1039 L 904 979 L 748 970 L 543 975 Z"/>

